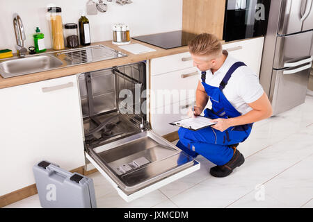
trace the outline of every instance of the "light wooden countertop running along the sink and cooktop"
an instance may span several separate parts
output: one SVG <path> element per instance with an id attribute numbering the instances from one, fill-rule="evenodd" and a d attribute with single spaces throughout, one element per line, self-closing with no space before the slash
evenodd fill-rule
<path id="1" fill-rule="evenodd" d="M 23 85 L 27 83 L 35 83 L 42 80 L 48 80 L 52 78 L 59 78 L 63 76 L 70 76 L 73 74 L 79 74 L 87 71 L 95 71 L 99 69 L 105 69 L 113 66 L 118 65 L 126 65 L 133 62 L 140 62 L 143 60 L 150 60 L 152 58 L 158 58 L 162 56 L 170 56 L 177 53 L 184 53 L 188 51 L 188 46 L 182 46 L 174 49 L 162 49 L 157 46 L 152 46 L 151 44 L 146 44 L 145 42 L 140 42 L 138 40 L 131 39 L 130 44 L 134 43 L 140 43 L 145 46 L 148 46 L 152 49 L 155 49 L 156 51 L 150 52 L 150 53 L 141 53 L 141 54 L 133 54 L 129 51 L 125 51 L 123 49 L 120 49 L 118 45 L 112 44 L 112 41 L 106 41 L 106 42 L 95 42 L 92 45 L 98 45 L 103 44 L 104 46 L 109 46 L 112 49 L 121 51 L 122 53 L 126 53 L 128 56 L 123 58 L 115 58 L 111 60 L 104 60 L 99 62 L 92 62 L 88 64 L 83 65 L 75 65 L 72 67 L 66 67 L 61 69 L 54 69 L 50 71 L 41 71 L 34 74 L 27 74 L 24 76 L 16 76 L 11 78 L 2 78 L 0 76 L 0 89 L 6 88 L 6 87 L 13 87 L 16 85 Z"/>

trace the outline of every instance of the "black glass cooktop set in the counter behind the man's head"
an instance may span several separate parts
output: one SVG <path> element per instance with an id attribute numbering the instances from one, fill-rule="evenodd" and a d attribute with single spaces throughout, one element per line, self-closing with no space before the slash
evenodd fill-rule
<path id="1" fill-rule="evenodd" d="M 152 35 L 141 35 L 132 37 L 134 40 L 139 40 L 163 49 L 172 49 L 180 46 L 188 45 L 188 42 L 195 37 L 196 34 L 186 33 L 184 31 L 173 31 L 169 33 L 158 33 Z"/>

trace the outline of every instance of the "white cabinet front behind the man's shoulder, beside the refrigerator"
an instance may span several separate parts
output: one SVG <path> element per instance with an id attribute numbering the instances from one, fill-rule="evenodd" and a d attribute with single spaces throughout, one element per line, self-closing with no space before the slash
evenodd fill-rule
<path id="1" fill-rule="evenodd" d="M 262 60 L 264 37 L 256 37 L 250 40 L 227 43 L 223 45 L 230 55 L 250 67 L 257 76 Z"/>

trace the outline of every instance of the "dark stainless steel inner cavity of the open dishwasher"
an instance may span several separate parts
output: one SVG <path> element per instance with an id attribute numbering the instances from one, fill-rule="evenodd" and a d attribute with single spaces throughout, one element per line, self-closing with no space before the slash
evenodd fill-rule
<path id="1" fill-rule="evenodd" d="M 141 109 L 144 62 L 81 74 L 79 90 L 86 146 L 94 148 L 141 132 L 146 123 L 146 108 Z"/>

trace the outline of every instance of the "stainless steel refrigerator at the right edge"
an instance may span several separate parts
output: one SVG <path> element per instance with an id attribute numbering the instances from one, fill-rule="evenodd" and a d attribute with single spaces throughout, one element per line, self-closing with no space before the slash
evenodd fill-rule
<path id="1" fill-rule="evenodd" d="M 312 42 L 313 0 L 271 1 L 259 80 L 273 115 L 305 102 Z"/>

